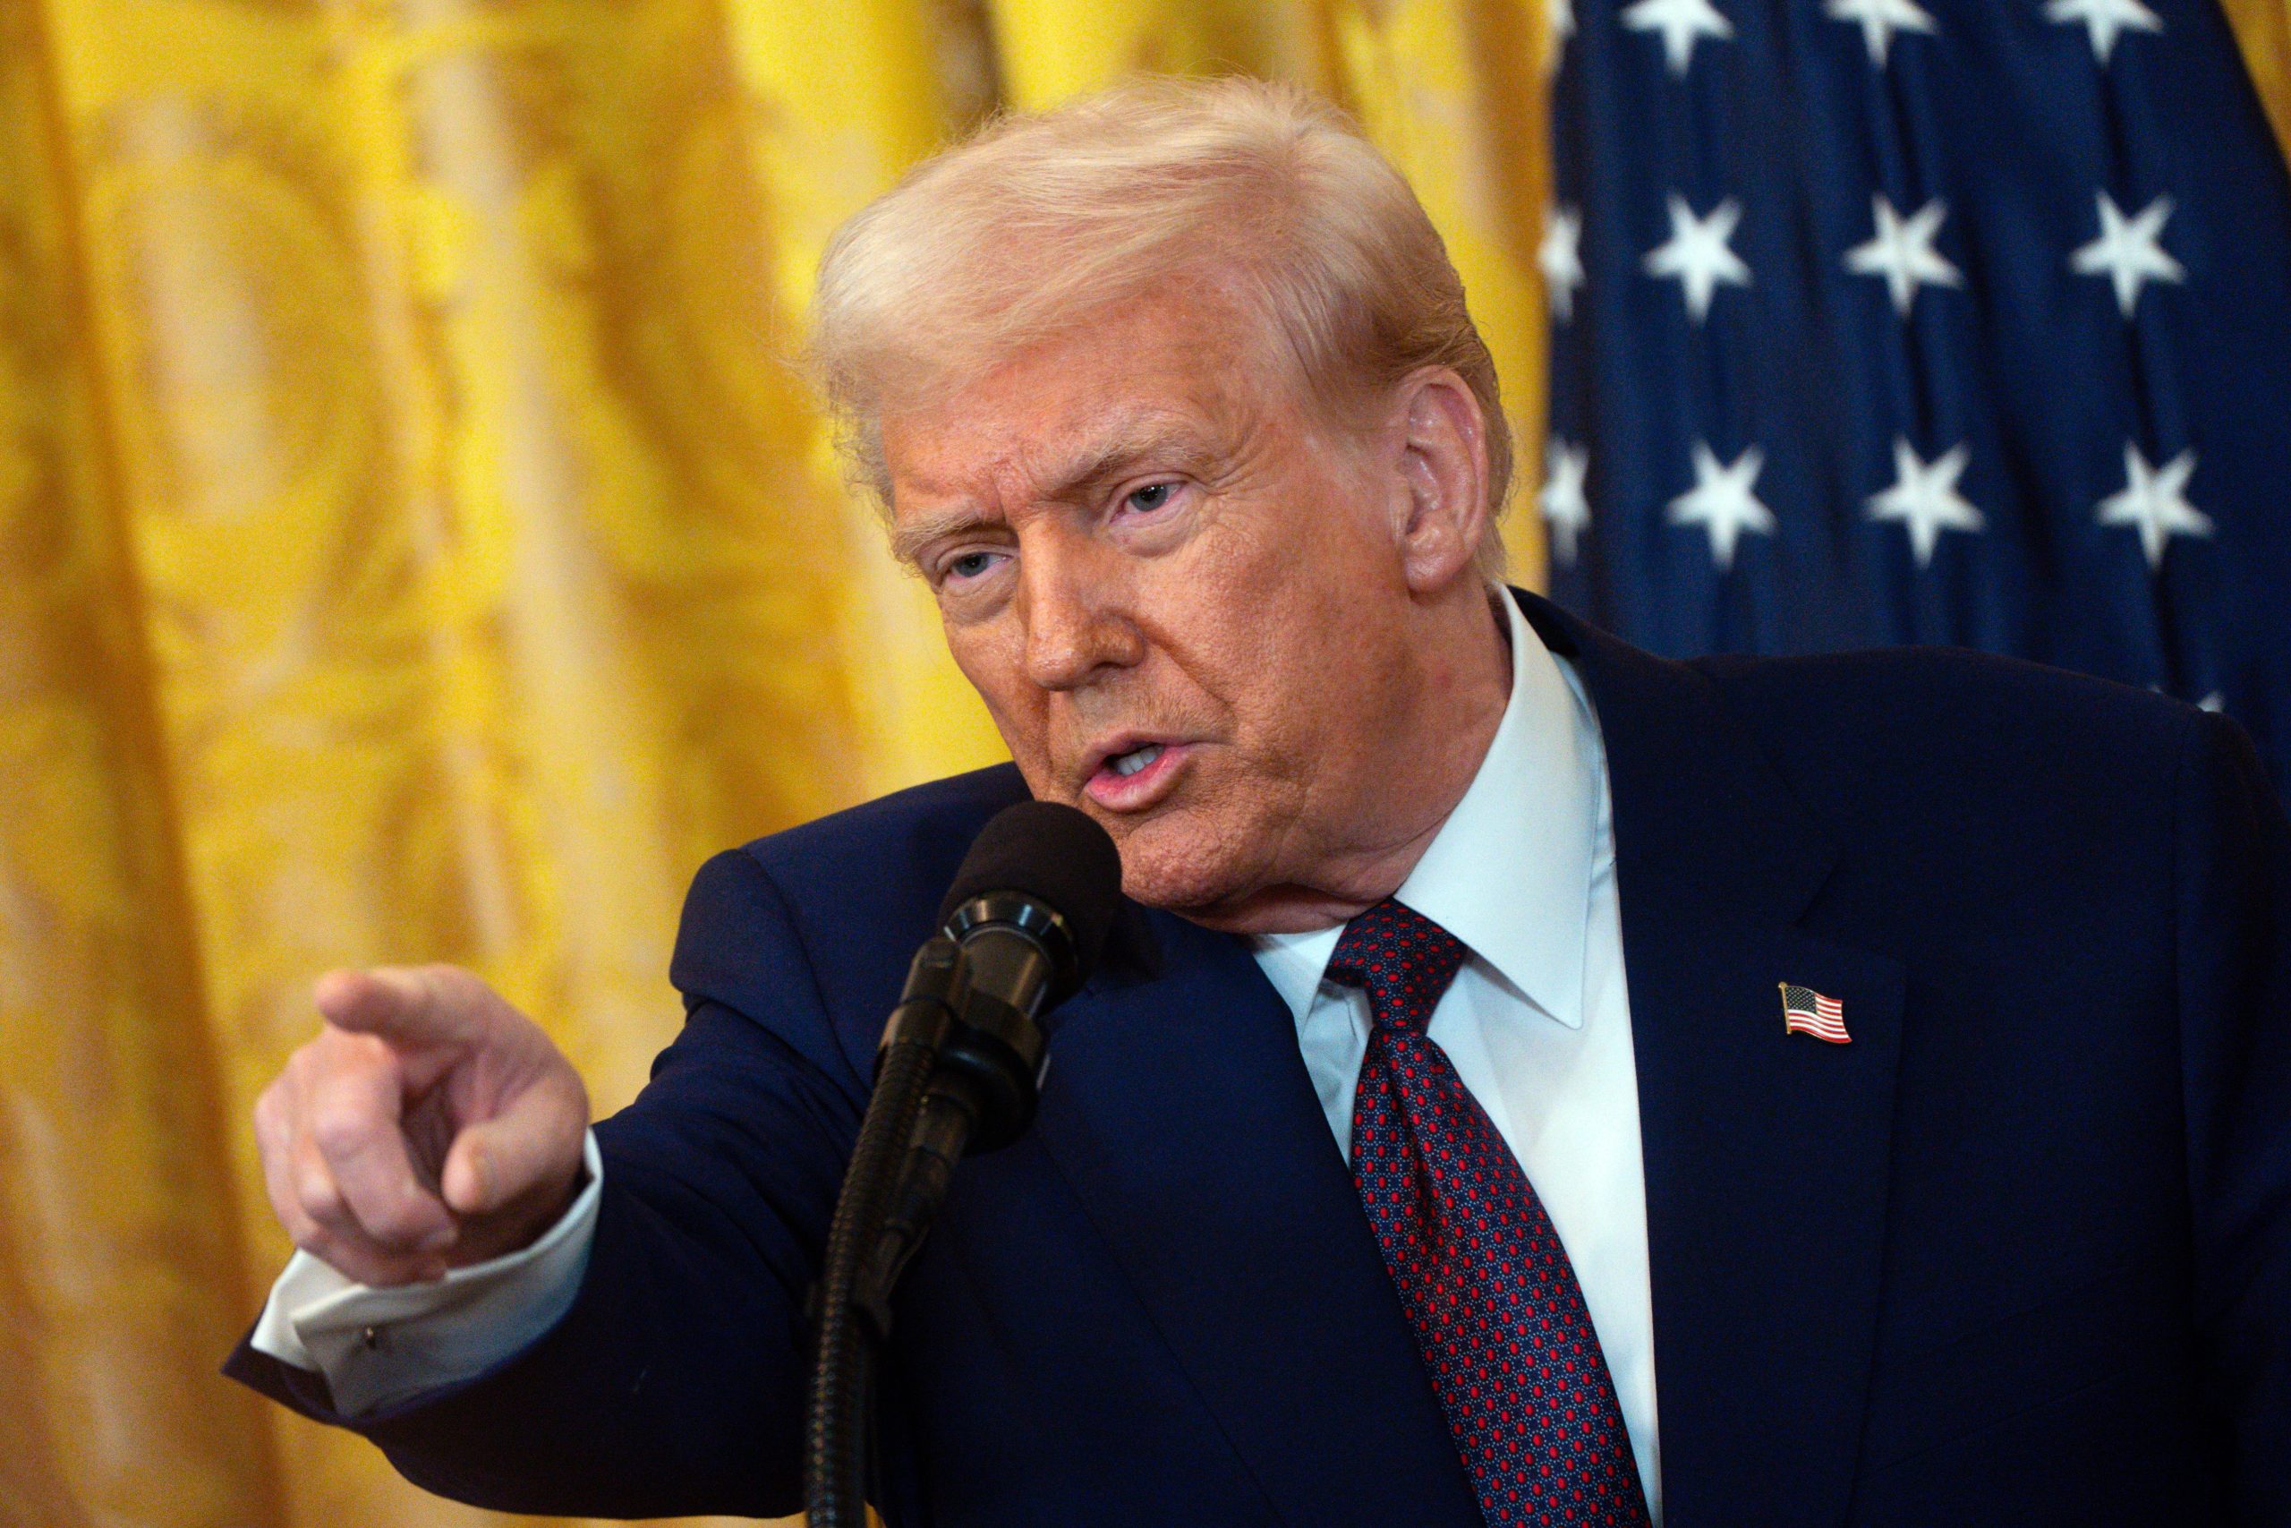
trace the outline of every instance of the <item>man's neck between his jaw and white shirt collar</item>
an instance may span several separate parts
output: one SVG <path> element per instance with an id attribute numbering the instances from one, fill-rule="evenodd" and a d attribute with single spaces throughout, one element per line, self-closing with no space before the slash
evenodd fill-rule
<path id="1" fill-rule="evenodd" d="M 1432 838 L 1471 790 L 1487 758 L 1503 708 L 1512 694 L 1512 646 L 1507 614 L 1494 600 L 1510 596 L 1471 591 L 1452 619 L 1441 621 L 1418 648 L 1416 706 L 1409 724 L 1393 728 L 1391 772 L 1381 781 L 1404 781 L 1402 804 L 1384 813 L 1379 832 L 1363 841 L 1308 850 L 1306 875 L 1251 889 L 1210 907 L 1178 907 L 1184 919 L 1237 935 L 1297 935 L 1347 923 L 1400 891 Z M 1379 790 L 1388 786 L 1379 783 Z"/>

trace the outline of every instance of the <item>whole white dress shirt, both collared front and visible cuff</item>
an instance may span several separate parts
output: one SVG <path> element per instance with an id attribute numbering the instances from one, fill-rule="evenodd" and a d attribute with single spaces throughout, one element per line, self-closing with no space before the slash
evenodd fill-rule
<path id="1" fill-rule="evenodd" d="M 1661 1528 L 1647 1184 L 1606 754 L 1574 667 L 1544 648 L 1510 596 L 1496 602 L 1512 696 L 1471 788 L 1398 896 L 1471 951 L 1427 1033 L 1519 1157 L 1567 1249 Z M 1368 999 L 1322 980 L 1340 932 L 1253 944 L 1297 1015 L 1306 1070 L 1349 1157 Z M 376 1290 L 296 1253 L 254 1347 L 323 1372 L 348 1416 L 506 1358 L 580 1290 L 603 1180 L 593 1134 L 586 1155 L 589 1187 L 541 1242 L 442 1283 Z"/>

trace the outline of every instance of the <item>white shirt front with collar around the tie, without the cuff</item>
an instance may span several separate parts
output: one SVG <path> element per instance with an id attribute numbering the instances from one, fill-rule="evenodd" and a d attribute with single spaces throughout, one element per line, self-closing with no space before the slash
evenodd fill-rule
<path id="1" fill-rule="evenodd" d="M 1471 788 L 1395 896 L 1471 951 L 1425 1033 L 1519 1157 L 1567 1249 L 1661 1528 L 1647 1173 L 1606 749 L 1574 664 L 1544 648 L 1517 600 L 1501 605 L 1512 699 Z M 1368 994 L 1322 980 L 1340 935 L 1262 935 L 1255 953 L 1297 1015 L 1306 1072 L 1349 1159 Z"/>

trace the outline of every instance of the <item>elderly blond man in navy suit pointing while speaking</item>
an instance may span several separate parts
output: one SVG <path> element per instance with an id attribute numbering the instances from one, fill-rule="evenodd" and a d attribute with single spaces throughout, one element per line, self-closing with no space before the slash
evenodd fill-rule
<path id="1" fill-rule="evenodd" d="M 1462 286 L 1269 87 L 932 160 L 818 348 L 1015 767 L 713 859 L 593 1134 L 474 978 L 325 978 L 234 1375 L 463 1501 L 793 1512 L 875 1040 L 1031 793 L 1132 907 L 900 1287 L 893 1523 L 2291 1521 L 2291 829 L 2229 722 L 1503 591 Z"/>

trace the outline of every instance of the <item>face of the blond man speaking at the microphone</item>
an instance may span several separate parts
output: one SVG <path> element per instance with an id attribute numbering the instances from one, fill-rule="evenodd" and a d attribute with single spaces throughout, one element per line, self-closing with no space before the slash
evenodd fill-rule
<path id="1" fill-rule="evenodd" d="M 884 419 L 893 541 L 955 662 L 1141 903 L 1288 926 L 1446 811 L 1409 790 L 1402 444 L 1326 424 L 1187 291 Z"/>

